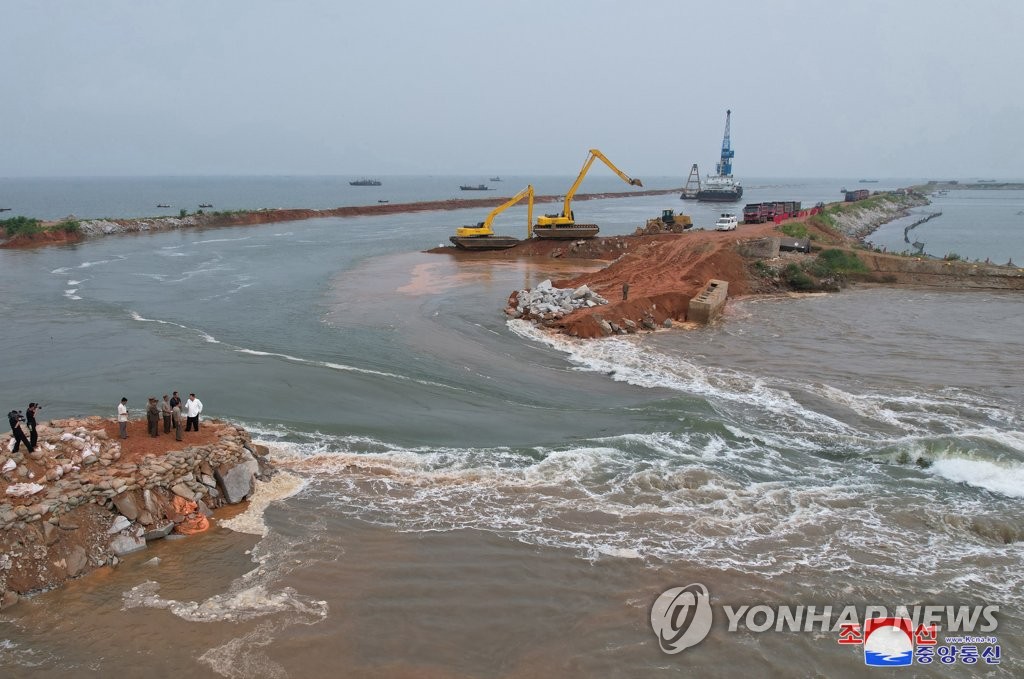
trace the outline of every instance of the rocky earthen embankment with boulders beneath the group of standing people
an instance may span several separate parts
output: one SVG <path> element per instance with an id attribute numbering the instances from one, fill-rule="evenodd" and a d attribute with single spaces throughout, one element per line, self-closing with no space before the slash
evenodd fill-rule
<path id="1" fill-rule="evenodd" d="M 31 454 L 0 439 L 0 609 L 154 540 L 205 529 L 213 510 L 247 500 L 273 473 L 245 429 L 203 426 L 211 442 L 156 455 L 126 454 L 116 423 L 99 417 L 40 423 Z"/>

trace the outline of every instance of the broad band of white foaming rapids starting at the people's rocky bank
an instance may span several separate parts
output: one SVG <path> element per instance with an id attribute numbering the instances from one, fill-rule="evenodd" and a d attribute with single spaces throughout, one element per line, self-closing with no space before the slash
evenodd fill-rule
<path id="1" fill-rule="evenodd" d="M 1016 540 L 978 527 L 1001 525 L 1006 501 L 943 491 L 929 470 L 780 455 L 739 430 L 459 449 L 247 426 L 276 445 L 275 462 L 306 478 L 305 493 L 330 511 L 397 531 L 485 531 L 589 560 L 684 561 L 769 577 L 971 570 L 974 593 L 1020 580 Z M 976 520 L 950 520 L 963 515 Z M 984 568 L 968 567 L 978 558 Z"/>

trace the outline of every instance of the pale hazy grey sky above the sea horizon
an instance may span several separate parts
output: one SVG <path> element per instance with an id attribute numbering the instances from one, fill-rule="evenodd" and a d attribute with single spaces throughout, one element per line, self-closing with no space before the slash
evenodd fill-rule
<path id="1" fill-rule="evenodd" d="M 1024 177 L 1024 2 L 2 0 L 0 176 Z"/>

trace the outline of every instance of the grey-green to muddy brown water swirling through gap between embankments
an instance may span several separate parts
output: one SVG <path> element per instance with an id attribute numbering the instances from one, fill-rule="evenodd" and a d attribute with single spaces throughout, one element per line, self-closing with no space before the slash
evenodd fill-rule
<path id="1" fill-rule="evenodd" d="M 669 198 L 578 217 L 629 232 L 692 205 Z M 690 583 L 716 607 L 997 604 L 1021 671 L 1019 293 L 741 300 L 583 342 L 502 308 L 588 264 L 421 252 L 480 213 L 0 251 L 8 409 L 196 391 L 285 474 L 262 513 L 4 611 L 4 675 L 861 674 L 837 634 L 721 618 L 664 654 L 650 606 Z"/>

